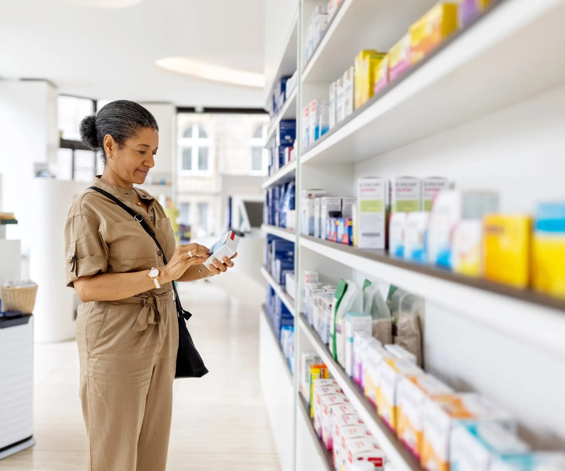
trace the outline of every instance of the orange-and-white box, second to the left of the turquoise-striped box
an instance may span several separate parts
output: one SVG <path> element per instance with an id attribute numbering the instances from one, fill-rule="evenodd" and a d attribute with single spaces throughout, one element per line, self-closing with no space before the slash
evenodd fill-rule
<path id="1" fill-rule="evenodd" d="M 449 386 L 431 374 L 403 376 L 397 386 L 397 434 L 416 457 L 424 439 L 424 404 L 427 397 L 453 394 Z"/>

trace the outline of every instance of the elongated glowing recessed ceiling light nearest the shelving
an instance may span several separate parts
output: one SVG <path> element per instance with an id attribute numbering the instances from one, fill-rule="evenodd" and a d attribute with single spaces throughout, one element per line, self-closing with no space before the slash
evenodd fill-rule
<path id="1" fill-rule="evenodd" d="M 192 75 L 199 79 L 244 85 L 245 87 L 263 88 L 265 76 L 255 72 L 246 72 L 228 67 L 214 66 L 206 62 L 195 61 L 186 57 L 167 57 L 155 61 L 158 67 L 178 74 Z"/>

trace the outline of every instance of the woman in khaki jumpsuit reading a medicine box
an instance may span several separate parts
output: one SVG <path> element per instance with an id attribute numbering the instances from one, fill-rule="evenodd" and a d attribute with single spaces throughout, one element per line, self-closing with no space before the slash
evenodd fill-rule
<path id="1" fill-rule="evenodd" d="M 93 185 L 142 215 L 141 224 L 92 189 L 76 198 L 66 228 L 67 285 L 82 304 L 76 322 L 80 398 L 90 471 L 165 471 L 179 325 L 172 282 L 218 275 L 198 244 L 175 247 L 171 222 L 145 182 L 159 145 L 155 118 L 141 105 L 114 101 L 80 124 L 82 141 L 101 150 Z"/>

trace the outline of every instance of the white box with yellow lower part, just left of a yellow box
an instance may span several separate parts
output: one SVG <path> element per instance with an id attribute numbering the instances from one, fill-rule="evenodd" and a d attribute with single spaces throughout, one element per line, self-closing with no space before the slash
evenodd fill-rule
<path id="1" fill-rule="evenodd" d="M 483 273 L 483 221 L 464 219 L 453 231 L 451 267 L 455 273 L 480 276 Z"/>

